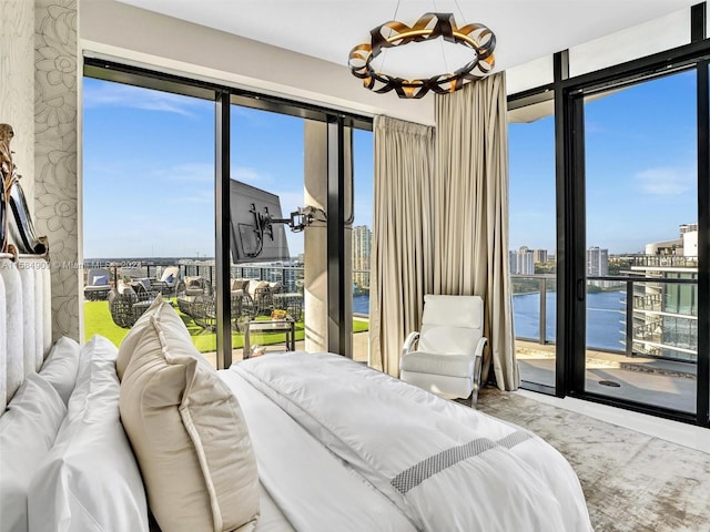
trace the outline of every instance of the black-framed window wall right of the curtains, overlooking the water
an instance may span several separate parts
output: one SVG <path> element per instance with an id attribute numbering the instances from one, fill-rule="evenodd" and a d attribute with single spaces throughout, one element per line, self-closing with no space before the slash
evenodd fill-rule
<path id="1" fill-rule="evenodd" d="M 529 75 L 513 76 L 519 92 L 509 98 L 511 272 L 537 246 L 523 242 L 535 225 L 520 216 L 540 191 L 524 176 L 546 164 L 541 139 L 554 136 L 555 153 L 556 303 L 548 294 L 545 311 L 557 309 L 556 330 L 530 335 L 526 325 L 539 329 L 541 310 L 534 305 L 524 316 L 515 296 L 523 387 L 709 423 L 704 21 L 701 3 L 556 53 L 551 80 L 530 86 Z M 653 39 L 660 25 L 662 42 Z M 528 66 L 538 65 L 520 72 Z M 544 116 L 554 120 L 546 132 Z M 536 147 L 538 158 L 526 163 L 526 151 Z M 510 282 L 519 284 L 520 274 Z M 554 371 L 523 350 L 542 337 L 555 339 Z"/>

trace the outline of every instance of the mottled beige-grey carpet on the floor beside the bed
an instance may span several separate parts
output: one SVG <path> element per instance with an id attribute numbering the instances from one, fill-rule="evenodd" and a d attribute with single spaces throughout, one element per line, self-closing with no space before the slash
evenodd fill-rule
<path id="1" fill-rule="evenodd" d="M 478 410 L 535 432 L 569 461 L 595 531 L 710 532 L 710 454 L 491 387 Z"/>

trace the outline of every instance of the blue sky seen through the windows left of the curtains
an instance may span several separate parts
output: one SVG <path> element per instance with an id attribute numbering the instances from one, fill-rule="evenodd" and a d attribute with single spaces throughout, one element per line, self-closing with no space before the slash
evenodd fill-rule
<path id="1" fill-rule="evenodd" d="M 84 256 L 214 256 L 214 103 L 84 78 Z M 232 108 L 233 178 L 303 200 L 303 119 Z M 356 131 L 355 225 L 372 227 L 372 133 Z M 287 232 L 292 256 L 303 233 Z"/>

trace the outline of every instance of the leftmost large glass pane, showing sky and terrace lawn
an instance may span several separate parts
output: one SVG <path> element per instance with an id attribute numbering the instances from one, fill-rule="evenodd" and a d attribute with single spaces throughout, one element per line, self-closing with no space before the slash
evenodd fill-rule
<path id="1" fill-rule="evenodd" d="M 158 293 L 216 283 L 185 270 L 214 256 L 214 101 L 87 76 L 82 142 L 84 336 L 119 345 Z M 185 324 L 214 351 L 213 313 Z"/>

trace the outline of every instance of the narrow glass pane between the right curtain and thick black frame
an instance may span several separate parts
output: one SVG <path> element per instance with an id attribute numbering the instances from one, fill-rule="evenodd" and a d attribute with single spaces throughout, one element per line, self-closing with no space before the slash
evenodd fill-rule
<path id="1" fill-rule="evenodd" d="M 508 113 L 509 270 L 520 379 L 555 387 L 556 193 L 551 101 Z"/>

